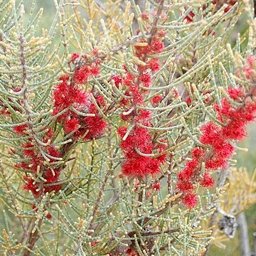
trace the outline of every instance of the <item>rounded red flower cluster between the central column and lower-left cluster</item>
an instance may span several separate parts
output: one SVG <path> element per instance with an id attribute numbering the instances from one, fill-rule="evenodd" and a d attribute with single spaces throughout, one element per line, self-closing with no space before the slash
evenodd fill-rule
<path id="1" fill-rule="evenodd" d="M 79 55 L 73 54 L 73 61 L 79 58 Z M 92 139 L 102 136 L 107 122 L 105 122 L 97 107 L 92 102 L 88 92 L 80 89 L 80 83 L 86 82 L 91 75 L 97 75 L 99 70 L 96 65 L 85 65 L 75 70 L 73 81 L 69 81 L 68 75 L 60 78 L 61 82 L 53 90 L 54 108 L 53 115 L 58 115 L 58 122 L 63 124 L 66 133 L 74 132 L 75 137 L 83 137 L 85 132 L 89 131 L 84 139 Z M 104 98 L 94 95 L 97 105 L 105 105 Z M 70 108 L 72 108 L 70 109 Z M 66 110 L 66 111 L 65 111 Z M 77 111 L 75 111 L 77 110 Z M 63 114 L 60 114 L 63 112 Z M 94 117 L 84 117 L 82 114 L 95 114 Z"/>

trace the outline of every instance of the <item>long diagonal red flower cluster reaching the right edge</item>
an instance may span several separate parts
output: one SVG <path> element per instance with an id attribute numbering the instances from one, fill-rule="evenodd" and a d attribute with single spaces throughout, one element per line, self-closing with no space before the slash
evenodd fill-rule
<path id="1" fill-rule="evenodd" d="M 241 107 L 233 107 L 226 98 L 223 99 L 221 107 L 215 106 L 218 119 L 225 125 L 218 127 L 210 122 L 201 129 L 200 142 L 209 147 L 194 148 L 192 159 L 178 174 L 177 189 L 184 194 L 183 203 L 189 208 L 196 206 L 196 194 L 193 193 L 195 183 L 199 182 L 203 188 L 213 186 L 214 181 L 209 172 L 227 166 L 227 161 L 234 151 L 229 140 L 243 139 L 246 135 L 246 124 L 255 119 L 256 104 L 244 102 L 245 92 L 239 88 L 230 88 L 228 94 L 233 100 L 240 102 Z M 201 176 L 203 162 L 206 172 Z"/>

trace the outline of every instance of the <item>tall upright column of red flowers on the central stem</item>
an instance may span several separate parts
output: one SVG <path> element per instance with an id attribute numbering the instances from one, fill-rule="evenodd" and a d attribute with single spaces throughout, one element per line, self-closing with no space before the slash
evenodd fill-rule
<path id="1" fill-rule="evenodd" d="M 144 15 L 145 16 L 145 15 Z M 165 150 L 162 144 L 156 144 L 151 138 L 149 130 L 137 126 L 143 124 L 150 126 L 151 112 L 145 110 L 131 110 L 136 108 L 134 106 L 143 105 L 144 95 L 146 90 L 143 87 L 151 85 L 151 72 L 159 70 L 160 64 L 158 58 L 147 58 L 147 54 L 160 53 L 164 49 L 164 43 L 161 42 L 161 36 L 164 36 L 163 31 L 156 32 L 151 38 L 151 41 L 141 41 L 146 46 L 135 46 L 136 55 L 139 59 L 143 60 L 146 65 L 137 65 L 139 75 L 135 76 L 128 72 L 121 77 L 115 75 L 112 77 L 116 86 L 121 83 L 127 87 L 125 95 L 130 96 L 127 100 L 122 100 L 122 105 L 125 107 L 127 113 L 121 114 L 121 118 L 134 125 L 132 131 L 128 132 L 126 127 L 119 128 L 119 136 L 122 138 L 121 148 L 124 151 L 125 160 L 122 164 L 122 173 L 130 176 L 146 176 L 155 175 L 160 171 L 160 165 L 164 162 L 166 154 L 159 157 L 152 158 L 151 156 L 143 156 L 143 154 L 152 154 L 154 150 L 160 153 Z M 149 43 L 150 42 L 150 43 Z M 162 97 L 156 96 L 153 102 L 161 102 Z M 142 154 L 139 154 L 142 153 Z"/>

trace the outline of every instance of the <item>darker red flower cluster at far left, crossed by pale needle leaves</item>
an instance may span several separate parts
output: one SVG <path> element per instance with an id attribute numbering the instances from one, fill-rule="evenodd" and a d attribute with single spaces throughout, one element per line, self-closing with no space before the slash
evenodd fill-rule
<path id="1" fill-rule="evenodd" d="M 16 131 L 18 134 L 20 134 L 21 130 L 23 135 L 27 135 L 24 132 L 24 129 L 14 129 L 14 131 Z M 52 139 L 52 137 L 53 132 L 51 129 L 49 129 L 43 137 L 43 142 L 47 142 L 48 139 Z M 32 139 L 28 139 L 28 141 L 29 142 L 26 144 L 23 144 L 22 152 L 23 155 L 26 156 L 26 160 L 21 161 L 21 164 L 15 164 L 16 168 L 23 169 L 23 171 L 31 173 L 31 176 L 23 176 L 24 181 L 26 181 L 24 189 L 31 191 L 35 197 L 41 196 L 42 193 L 59 191 L 61 185 L 50 185 L 51 183 L 57 183 L 59 181 L 59 169 L 50 169 L 46 167 L 46 164 L 44 164 L 46 159 L 44 159 L 41 152 L 35 148 L 32 143 Z M 50 162 L 56 161 L 54 158 L 61 157 L 60 151 L 58 151 L 58 149 L 56 149 L 54 146 L 42 146 L 42 150 L 48 154 Z M 41 174 L 41 178 L 38 177 L 38 171 Z"/>

